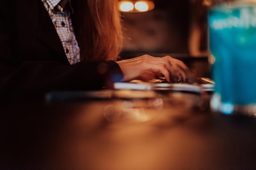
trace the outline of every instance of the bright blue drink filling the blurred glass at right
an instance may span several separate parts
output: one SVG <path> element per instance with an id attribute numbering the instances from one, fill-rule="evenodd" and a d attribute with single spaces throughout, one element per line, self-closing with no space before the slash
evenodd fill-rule
<path id="1" fill-rule="evenodd" d="M 223 6 L 209 12 L 215 93 L 221 102 L 256 103 L 256 7 Z"/>

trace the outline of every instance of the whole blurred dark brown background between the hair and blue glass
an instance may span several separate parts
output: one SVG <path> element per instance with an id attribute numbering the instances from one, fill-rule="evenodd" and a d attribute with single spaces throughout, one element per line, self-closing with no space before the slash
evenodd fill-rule
<path id="1" fill-rule="evenodd" d="M 210 77 L 207 9 L 202 0 L 154 0 L 146 12 L 121 12 L 121 59 L 150 54 L 181 59 L 196 76 Z"/>

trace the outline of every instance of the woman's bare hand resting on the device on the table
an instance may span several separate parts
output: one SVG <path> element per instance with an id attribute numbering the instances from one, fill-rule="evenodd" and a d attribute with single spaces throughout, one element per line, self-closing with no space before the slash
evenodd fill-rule
<path id="1" fill-rule="evenodd" d="M 164 76 L 168 82 L 187 81 L 189 69 L 180 60 L 170 56 L 152 57 L 143 55 L 141 57 L 117 61 L 124 78 L 123 81 L 140 78 L 150 80 L 155 76 Z"/>

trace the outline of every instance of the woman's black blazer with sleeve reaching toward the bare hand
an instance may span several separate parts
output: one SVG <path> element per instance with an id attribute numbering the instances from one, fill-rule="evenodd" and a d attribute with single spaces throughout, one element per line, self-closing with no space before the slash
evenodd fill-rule
<path id="1" fill-rule="evenodd" d="M 121 69 L 114 61 L 67 62 L 41 0 L 0 2 L 1 103 L 43 99 L 55 90 L 100 89 L 121 81 Z M 59 50 L 43 39 L 44 33 Z"/>

